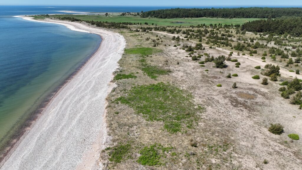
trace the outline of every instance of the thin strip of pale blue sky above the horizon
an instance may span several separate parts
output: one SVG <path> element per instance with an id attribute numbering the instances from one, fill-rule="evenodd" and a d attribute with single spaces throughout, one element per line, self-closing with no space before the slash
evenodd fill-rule
<path id="1" fill-rule="evenodd" d="M 0 0 L 0 5 L 302 6 L 302 0 Z"/>

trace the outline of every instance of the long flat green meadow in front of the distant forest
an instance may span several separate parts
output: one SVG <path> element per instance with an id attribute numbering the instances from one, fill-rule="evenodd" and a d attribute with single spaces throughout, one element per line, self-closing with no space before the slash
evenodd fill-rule
<path id="1" fill-rule="evenodd" d="M 152 23 L 161 26 L 190 26 L 198 24 L 243 24 L 247 21 L 253 21 L 259 18 L 173 18 L 173 19 L 162 19 L 162 18 L 140 18 L 139 16 L 104 16 L 104 15 L 53 15 L 55 17 L 74 17 L 81 20 L 93 20 L 93 21 L 109 21 L 109 22 L 132 22 L 142 23 L 144 25 L 147 22 L 149 25 Z"/>

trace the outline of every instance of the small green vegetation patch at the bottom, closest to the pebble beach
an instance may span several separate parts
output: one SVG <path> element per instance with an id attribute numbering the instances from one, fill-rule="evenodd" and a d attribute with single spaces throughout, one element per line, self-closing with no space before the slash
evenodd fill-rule
<path id="1" fill-rule="evenodd" d="M 114 147 L 109 147 L 106 148 L 105 150 L 111 150 L 111 152 L 109 152 L 109 161 L 111 162 L 116 162 L 116 163 L 120 163 L 123 160 L 127 159 L 130 157 L 130 153 L 131 153 L 131 145 L 128 144 L 118 144 L 117 146 Z"/>

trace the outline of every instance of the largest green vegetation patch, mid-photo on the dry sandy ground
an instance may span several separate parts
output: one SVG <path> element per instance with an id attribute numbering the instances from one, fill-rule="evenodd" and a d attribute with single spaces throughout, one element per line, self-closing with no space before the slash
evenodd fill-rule
<path id="1" fill-rule="evenodd" d="M 169 83 L 157 83 L 132 87 L 117 102 L 143 114 L 148 121 L 163 121 L 170 133 L 185 132 L 192 128 L 202 107 L 193 103 L 193 96 Z"/>

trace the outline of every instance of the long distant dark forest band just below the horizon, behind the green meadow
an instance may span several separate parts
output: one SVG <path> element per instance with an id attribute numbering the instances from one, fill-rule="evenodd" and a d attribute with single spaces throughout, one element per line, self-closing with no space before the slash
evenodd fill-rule
<path id="1" fill-rule="evenodd" d="M 282 16 L 302 17 L 302 8 L 172 8 L 146 11 L 141 17 L 156 18 L 277 18 Z"/>

